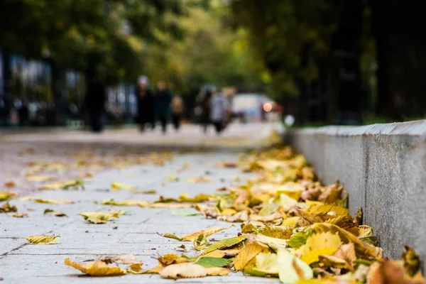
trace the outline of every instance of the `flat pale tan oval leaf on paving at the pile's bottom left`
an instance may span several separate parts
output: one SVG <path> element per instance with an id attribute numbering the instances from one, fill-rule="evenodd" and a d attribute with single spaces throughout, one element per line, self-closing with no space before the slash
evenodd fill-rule
<path id="1" fill-rule="evenodd" d="M 195 263 L 172 264 L 160 271 L 163 278 L 200 278 L 207 276 L 207 269 Z"/>

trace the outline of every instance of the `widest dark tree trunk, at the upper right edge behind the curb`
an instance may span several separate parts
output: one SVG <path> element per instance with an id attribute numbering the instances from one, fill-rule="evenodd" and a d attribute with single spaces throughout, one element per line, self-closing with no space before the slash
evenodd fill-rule
<path id="1" fill-rule="evenodd" d="M 376 113 L 395 120 L 424 116 L 426 1 L 370 3 L 378 60 Z"/>

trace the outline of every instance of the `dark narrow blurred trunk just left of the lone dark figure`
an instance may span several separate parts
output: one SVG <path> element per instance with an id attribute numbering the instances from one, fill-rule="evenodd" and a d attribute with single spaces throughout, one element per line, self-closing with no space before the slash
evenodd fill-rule
<path id="1" fill-rule="evenodd" d="M 53 91 L 53 102 L 55 103 L 55 121 L 56 126 L 65 126 L 67 124 L 66 116 L 66 73 L 65 68 L 58 65 L 55 60 L 50 59 L 50 70 L 52 72 L 51 88 Z"/>

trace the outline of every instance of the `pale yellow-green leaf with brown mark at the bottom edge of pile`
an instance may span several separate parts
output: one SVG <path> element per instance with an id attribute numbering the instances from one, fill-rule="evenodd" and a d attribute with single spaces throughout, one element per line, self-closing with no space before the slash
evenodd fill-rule
<path id="1" fill-rule="evenodd" d="M 312 269 L 290 251 L 278 246 L 278 275 L 281 282 L 285 284 L 296 283 L 300 279 L 311 279 L 314 277 Z"/>

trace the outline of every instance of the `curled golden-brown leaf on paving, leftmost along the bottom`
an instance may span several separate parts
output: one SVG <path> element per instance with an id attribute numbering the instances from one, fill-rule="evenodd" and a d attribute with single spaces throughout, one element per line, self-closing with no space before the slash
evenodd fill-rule
<path id="1" fill-rule="evenodd" d="M 70 258 L 65 258 L 65 265 L 72 266 L 82 273 L 86 273 L 91 276 L 114 276 L 124 275 L 127 273 L 126 269 L 119 268 L 118 266 L 108 266 L 104 261 L 93 261 L 90 263 L 79 263 L 77 261 L 71 261 Z"/>

